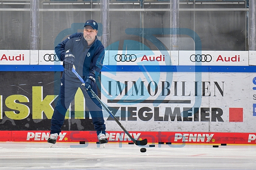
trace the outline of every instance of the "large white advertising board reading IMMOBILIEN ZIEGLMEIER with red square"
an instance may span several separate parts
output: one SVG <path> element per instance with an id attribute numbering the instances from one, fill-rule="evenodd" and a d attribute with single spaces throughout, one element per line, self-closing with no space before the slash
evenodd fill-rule
<path id="1" fill-rule="evenodd" d="M 102 101 L 130 131 L 256 128 L 255 73 L 102 72 L 101 80 Z M 104 117 L 108 130 L 116 130 L 106 111 Z"/>

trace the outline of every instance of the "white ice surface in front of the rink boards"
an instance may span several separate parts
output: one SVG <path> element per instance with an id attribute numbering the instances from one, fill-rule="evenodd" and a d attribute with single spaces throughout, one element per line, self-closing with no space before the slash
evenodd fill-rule
<path id="1" fill-rule="evenodd" d="M 0 170 L 256 170 L 256 145 L 0 142 Z M 161 147 L 159 147 L 161 146 Z"/>

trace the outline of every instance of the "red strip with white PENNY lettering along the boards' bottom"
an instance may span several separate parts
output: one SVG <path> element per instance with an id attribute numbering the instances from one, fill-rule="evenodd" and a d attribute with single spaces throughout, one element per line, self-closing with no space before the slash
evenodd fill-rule
<path id="1" fill-rule="evenodd" d="M 220 132 L 129 132 L 135 140 L 147 139 L 148 144 L 256 144 L 256 133 Z M 46 142 L 49 131 L 0 131 L 0 141 Z M 131 139 L 122 131 L 107 131 L 109 142 L 129 143 Z M 95 131 L 63 131 L 58 142 L 98 142 Z"/>

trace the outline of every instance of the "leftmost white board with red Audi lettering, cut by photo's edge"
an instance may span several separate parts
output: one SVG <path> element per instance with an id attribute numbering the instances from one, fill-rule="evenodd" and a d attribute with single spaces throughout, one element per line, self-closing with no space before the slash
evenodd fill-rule
<path id="1" fill-rule="evenodd" d="M 0 64 L 29 65 L 30 50 L 0 50 Z"/>

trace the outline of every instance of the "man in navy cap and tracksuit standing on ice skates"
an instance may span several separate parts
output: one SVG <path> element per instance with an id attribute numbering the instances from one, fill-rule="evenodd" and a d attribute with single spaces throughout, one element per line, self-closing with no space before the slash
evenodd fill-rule
<path id="1" fill-rule="evenodd" d="M 96 37 L 97 33 L 97 22 L 87 20 L 83 33 L 74 33 L 55 47 L 56 55 L 59 60 L 63 61 L 64 71 L 61 77 L 59 99 L 52 115 L 48 143 L 56 143 L 59 132 L 61 132 L 65 114 L 78 88 L 81 88 L 83 92 L 100 144 L 108 143 L 102 106 L 89 90 L 91 88 L 97 94 L 95 80 L 102 69 L 105 53 L 104 46 Z M 78 74 L 85 80 L 85 85 L 81 85 L 81 81 L 72 72 L 73 66 L 75 66 Z"/>

